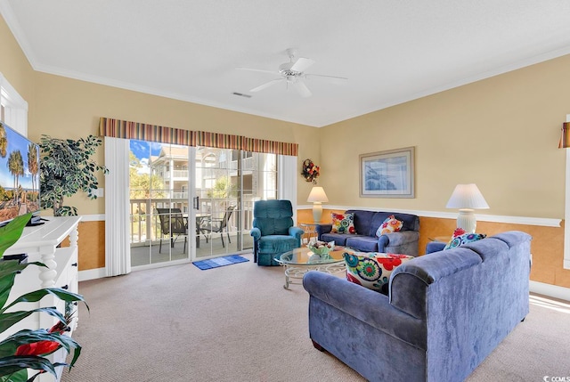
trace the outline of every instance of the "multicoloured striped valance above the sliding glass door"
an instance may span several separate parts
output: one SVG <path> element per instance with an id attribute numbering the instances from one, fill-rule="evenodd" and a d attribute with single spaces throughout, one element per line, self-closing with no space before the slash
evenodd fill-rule
<path id="1" fill-rule="evenodd" d="M 114 118 L 101 118 L 99 134 L 114 138 L 172 143 L 186 146 L 207 146 L 216 149 L 246 150 L 297 156 L 298 144 L 248 138 L 241 135 L 190 131 L 174 127 L 142 124 Z"/>

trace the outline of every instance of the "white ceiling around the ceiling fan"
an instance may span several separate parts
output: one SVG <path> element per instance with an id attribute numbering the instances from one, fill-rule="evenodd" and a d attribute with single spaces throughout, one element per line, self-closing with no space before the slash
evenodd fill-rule
<path id="1" fill-rule="evenodd" d="M 0 0 L 36 70 L 326 126 L 570 53 L 568 0 Z M 239 67 L 311 58 L 313 96 Z M 0 47 L 1 54 L 1 47 Z M 232 93 L 252 95 L 245 98 Z"/>

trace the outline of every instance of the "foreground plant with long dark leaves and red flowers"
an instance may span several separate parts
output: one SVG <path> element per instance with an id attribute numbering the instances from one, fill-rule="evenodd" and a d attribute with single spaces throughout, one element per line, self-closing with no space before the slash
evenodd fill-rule
<path id="1" fill-rule="evenodd" d="M 10 248 L 18 239 L 24 226 L 31 218 L 31 214 L 20 215 L 10 223 L 0 227 L 0 257 L 4 251 Z M 12 325 L 26 319 L 32 313 L 46 313 L 57 318 L 57 323 L 47 329 L 22 329 L 0 341 L 0 381 L 1 382 L 32 382 L 43 372 L 49 372 L 56 376 L 56 367 L 69 366 L 71 368 L 81 353 L 81 346 L 63 333 L 69 329 L 69 316 L 64 316 L 55 307 L 40 307 L 31 310 L 13 311 L 14 305 L 19 303 L 37 303 L 43 297 L 52 295 L 66 303 L 84 301 L 83 297 L 65 289 L 45 288 L 26 293 L 8 303 L 8 297 L 14 284 L 14 280 L 20 272 L 29 265 L 45 267 L 42 263 L 20 264 L 18 260 L 0 261 L 0 334 L 12 327 Z M 88 308 L 88 307 L 87 307 Z M 53 363 L 46 355 L 52 354 L 61 347 L 69 353 L 74 349 L 71 362 Z M 28 369 L 38 370 L 28 378 Z"/>

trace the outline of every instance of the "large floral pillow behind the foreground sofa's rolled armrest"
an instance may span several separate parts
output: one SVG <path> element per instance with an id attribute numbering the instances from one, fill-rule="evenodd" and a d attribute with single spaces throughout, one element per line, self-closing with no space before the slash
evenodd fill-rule
<path id="1" fill-rule="evenodd" d="M 344 254 L 346 263 L 346 280 L 362 285 L 364 288 L 376 290 L 387 295 L 388 281 L 395 268 L 413 256 L 385 254 L 379 252 Z"/>

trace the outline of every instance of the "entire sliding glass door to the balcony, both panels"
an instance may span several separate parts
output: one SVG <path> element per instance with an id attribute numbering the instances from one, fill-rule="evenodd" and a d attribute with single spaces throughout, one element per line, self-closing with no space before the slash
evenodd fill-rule
<path id="1" fill-rule="evenodd" d="M 277 198 L 277 156 L 130 142 L 131 264 L 250 251 L 253 204 Z"/>

